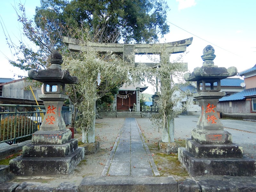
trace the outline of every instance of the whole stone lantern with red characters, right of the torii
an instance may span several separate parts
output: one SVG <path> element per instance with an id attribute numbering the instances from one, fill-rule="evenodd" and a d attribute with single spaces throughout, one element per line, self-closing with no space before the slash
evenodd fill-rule
<path id="1" fill-rule="evenodd" d="M 225 92 L 220 92 L 220 80 L 236 75 L 237 69 L 215 66 L 216 55 L 211 45 L 204 48 L 201 57 L 203 66 L 184 75 L 186 81 L 197 81 L 197 93 L 193 97 L 201 106 L 201 115 L 197 128 L 191 131 L 191 139 L 186 140 L 186 148 L 178 149 L 178 158 L 193 177 L 253 176 L 256 161 L 243 157 L 243 148 L 232 143 L 232 135 L 224 131 L 216 111 L 219 99 L 225 95 Z M 213 86 L 215 82 L 216 87 Z M 206 89 L 206 83 L 210 84 L 210 89 Z"/>

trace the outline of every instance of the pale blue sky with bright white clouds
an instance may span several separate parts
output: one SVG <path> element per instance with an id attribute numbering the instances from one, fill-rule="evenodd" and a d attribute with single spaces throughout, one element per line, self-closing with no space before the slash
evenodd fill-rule
<path id="1" fill-rule="evenodd" d="M 21 26 L 12 5 L 17 7 L 21 2 L 25 5 L 27 16 L 33 18 L 35 7 L 40 5 L 40 0 L 0 0 L 0 2 L 3 22 L 12 38 L 17 39 L 20 36 Z M 201 55 L 204 47 L 209 44 L 215 49 L 214 63 L 219 67 L 235 66 L 238 71 L 243 71 L 256 64 L 255 0 L 167 0 L 167 2 L 171 9 L 167 14 L 170 33 L 160 42 L 193 37 L 193 43 L 187 48 L 188 53 L 183 57 L 183 62 L 188 62 L 190 71 L 202 66 Z M 12 56 L 2 29 L 0 29 L 0 39 L 2 72 L 0 77 L 13 77 L 13 74 L 26 75 L 25 72 L 12 67 L 4 58 L 3 53 L 7 57 Z"/>

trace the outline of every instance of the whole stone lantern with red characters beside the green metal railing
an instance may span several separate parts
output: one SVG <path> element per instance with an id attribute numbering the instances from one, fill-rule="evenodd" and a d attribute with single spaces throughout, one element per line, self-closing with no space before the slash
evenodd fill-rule
<path id="1" fill-rule="evenodd" d="M 71 139 L 72 133 L 66 129 L 61 115 L 64 101 L 68 99 L 65 84 L 76 84 L 78 78 L 61 70 L 63 60 L 59 52 L 51 54 L 50 62 L 48 69 L 28 71 L 31 79 L 44 83 L 44 94 L 39 97 L 44 101 L 46 114 L 40 130 L 32 135 L 32 143 L 23 147 L 22 157 L 10 161 L 10 170 L 16 175 L 69 174 L 84 158 L 84 148 L 78 147 L 77 139 Z M 57 86 L 56 92 L 53 86 Z"/>

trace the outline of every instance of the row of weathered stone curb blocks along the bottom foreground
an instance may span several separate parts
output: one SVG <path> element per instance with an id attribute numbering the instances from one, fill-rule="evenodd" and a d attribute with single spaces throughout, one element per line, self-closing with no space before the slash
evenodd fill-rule
<path id="1" fill-rule="evenodd" d="M 184 180 L 176 182 L 172 176 L 116 176 L 85 177 L 79 186 L 63 182 L 57 188 L 39 182 L 4 182 L 0 184 L 2 192 L 86 192 L 86 191 L 131 191 L 131 192 L 242 192 L 256 191 L 256 177 L 228 177 L 206 180 Z"/>

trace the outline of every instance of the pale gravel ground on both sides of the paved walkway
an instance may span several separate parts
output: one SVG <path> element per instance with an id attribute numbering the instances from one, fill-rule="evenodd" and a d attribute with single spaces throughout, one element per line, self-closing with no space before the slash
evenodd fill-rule
<path id="1" fill-rule="evenodd" d="M 177 174 L 174 176 L 176 180 L 182 180 L 189 177 L 186 170 L 180 167 L 179 162 L 177 162 L 177 155 L 171 154 L 172 156 L 166 156 L 164 154 L 160 154 L 157 150 L 157 144 L 162 138 L 162 132 L 158 132 L 158 130 L 154 129 L 151 124 L 149 118 L 138 118 L 136 119 L 139 127 L 141 129 L 142 134 L 144 135 L 144 139 L 150 149 L 150 152 L 156 162 L 156 166 L 160 172 L 161 176 L 173 176 L 174 168 L 177 168 L 177 172 L 181 172 L 182 174 Z M 198 116 L 179 116 L 178 118 L 174 118 L 175 132 L 174 137 L 176 141 L 183 142 L 186 138 L 191 138 L 191 130 L 196 128 L 196 123 L 198 120 Z M 243 122 L 242 122 L 243 123 Z M 23 182 L 23 181 L 34 181 L 34 182 L 42 182 L 49 183 L 52 186 L 58 186 L 61 182 L 74 182 L 76 185 L 79 185 L 81 180 L 86 176 L 100 177 L 104 166 L 107 162 L 110 151 L 112 150 L 116 138 L 119 132 L 122 129 L 124 124 L 124 118 L 104 118 L 97 119 L 95 124 L 95 139 L 100 142 L 100 150 L 98 153 L 93 155 L 86 155 L 85 160 L 83 160 L 76 169 L 71 172 L 68 176 L 60 176 L 60 177 L 16 177 L 14 182 Z M 248 135 L 246 132 L 240 132 L 235 130 L 227 130 L 234 135 L 234 142 L 237 144 L 244 144 L 244 151 L 247 152 L 245 154 L 250 154 L 250 156 L 255 157 L 255 142 L 254 142 L 254 134 Z M 248 133 L 249 134 L 249 133 Z M 82 135 L 77 133 L 75 138 L 81 141 Z M 240 137 L 240 139 L 239 139 Z M 241 137 L 244 137 L 241 139 Z M 248 142 L 247 140 L 249 139 Z M 247 140 L 246 140 L 247 139 Z M 247 143 L 244 143 L 244 142 Z M 247 146 L 252 143 L 252 150 L 248 151 Z M 252 154 L 252 155 L 251 155 Z M 175 160 L 170 162 L 170 160 Z M 176 173 L 175 173 L 176 174 Z"/>

